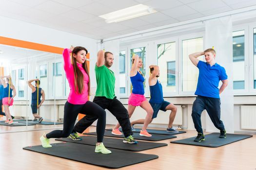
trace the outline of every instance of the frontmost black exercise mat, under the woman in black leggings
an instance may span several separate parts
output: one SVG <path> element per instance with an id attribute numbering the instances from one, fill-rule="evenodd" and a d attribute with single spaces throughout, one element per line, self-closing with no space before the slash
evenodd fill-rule
<path id="1" fill-rule="evenodd" d="M 112 152 L 110 154 L 95 153 L 95 146 L 72 142 L 51 145 L 53 146 L 52 148 L 43 148 L 41 145 L 38 145 L 24 147 L 23 149 L 111 169 L 158 158 L 158 155 L 154 154 L 134 153 L 117 149 L 110 149 Z"/>

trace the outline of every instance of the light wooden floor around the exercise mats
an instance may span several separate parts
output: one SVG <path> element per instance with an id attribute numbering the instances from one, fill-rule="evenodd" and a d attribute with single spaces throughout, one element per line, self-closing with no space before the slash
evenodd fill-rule
<path id="1" fill-rule="evenodd" d="M 111 128 L 112 126 L 107 126 Z M 0 126 L 0 129 L 3 126 Z M 12 128 L 12 127 L 8 127 Z M 0 170 L 105 170 L 93 165 L 22 150 L 39 145 L 39 137 L 51 130 L 0 134 Z M 94 132 L 95 127 L 90 127 Z M 187 131 L 177 138 L 162 140 L 168 146 L 139 153 L 157 154 L 158 159 L 119 170 L 256 170 L 256 136 L 218 148 L 171 144 L 171 140 L 195 136 Z M 52 143 L 56 143 L 51 139 Z"/>

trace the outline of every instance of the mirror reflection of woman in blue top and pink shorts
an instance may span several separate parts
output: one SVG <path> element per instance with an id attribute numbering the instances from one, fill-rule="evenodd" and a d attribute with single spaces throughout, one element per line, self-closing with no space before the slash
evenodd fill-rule
<path id="1" fill-rule="evenodd" d="M 3 80 L 3 78 L 6 78 L 6 82 Z M 0 81 L 3 85 L 2 103 L 6 116 L 5 123 L 13 124 L 13 119 L 10 114 L 9 106 L 13 105 L 13 98 L 16 96 L 16 89 L 15 86 L 12 84 L 11 76 L 0 76 Z"/>

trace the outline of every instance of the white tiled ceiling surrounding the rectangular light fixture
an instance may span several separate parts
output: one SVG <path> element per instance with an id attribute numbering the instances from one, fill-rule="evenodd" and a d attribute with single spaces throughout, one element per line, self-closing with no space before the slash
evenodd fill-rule
<path id="1" fill-rule="evenodd" d="M 139 3 L 158 12 L 118 23 L 98 17 Z M 253 5 L 256 0 L 0 0 L 0 16 L 104 39 Z"/>

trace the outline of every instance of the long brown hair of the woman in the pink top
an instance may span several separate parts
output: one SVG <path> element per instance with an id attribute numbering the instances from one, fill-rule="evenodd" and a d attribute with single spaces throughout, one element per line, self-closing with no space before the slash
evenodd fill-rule
<path id="1" fill-rule="evenodd" d="M 74 50 L 72 51 L 72 63 L 73 63 L 73 68 L 74 68 L 74 75 L 75 75 L 75 91 L 79 94 L 82 93 L 83 91 L 83 74 L 80 71 L 80 69 L 77 66 L 77 59 L 73 56 L 73 54 L 78 54 L 79 51 L 84 50 L 86 51 L 86 54 L 88 51 L 84 47 L 75 47 Z M 89 77 L 88 81 L 88 95 L 90 96 L 90 76 L 89 76 L 89 71 L 87 68 L 87 63 L 86 61 L 82 64 L 82 68 L 85 70 Z"/>

